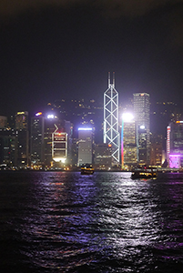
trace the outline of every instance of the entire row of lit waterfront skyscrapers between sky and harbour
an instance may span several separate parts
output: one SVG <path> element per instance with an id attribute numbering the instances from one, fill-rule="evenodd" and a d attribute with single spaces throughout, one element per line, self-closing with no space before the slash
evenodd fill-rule
<path id="1" fill-rule="evenodd" d="M 104 92 L 103 141 L 95 142 L 95 124 L 81 123 L 77 136 L 71 121 L 56 115 L 17 112 L 0 116 L 1 168 L 75 168 L 94 164 L 97 169 L 130 169 L 137 165 L 182 167 L 183 121 L 172 121 L 167 128 L 167 151 L 162 136 L 150 132 L 150 96 L 135 93 L 133 108 L 119 115 L 115 78 Z M 163 125 L 166 126 L 166 125 Z M 165 155 L 167 154 L 167 157 Z"/>

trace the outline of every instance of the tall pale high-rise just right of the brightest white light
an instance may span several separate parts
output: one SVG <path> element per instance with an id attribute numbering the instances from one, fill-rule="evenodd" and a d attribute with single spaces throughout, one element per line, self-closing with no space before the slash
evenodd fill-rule
<path id="1" fill-rule="evenodd" d="M 147 93 L 135 93 L 134 115 L 137 126 L 137 162 L 150 163 L 150 96 Z"/>

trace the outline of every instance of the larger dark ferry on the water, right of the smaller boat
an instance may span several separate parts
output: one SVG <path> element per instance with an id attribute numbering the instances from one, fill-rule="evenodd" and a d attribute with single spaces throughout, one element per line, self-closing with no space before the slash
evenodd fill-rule
<path id="1" fill-rule="evenodd" d="M 137 168 L 133 170 L 131 174 L 132 179 L 150 179 L 158 177 L 158 172 L 156 168 Z"/>

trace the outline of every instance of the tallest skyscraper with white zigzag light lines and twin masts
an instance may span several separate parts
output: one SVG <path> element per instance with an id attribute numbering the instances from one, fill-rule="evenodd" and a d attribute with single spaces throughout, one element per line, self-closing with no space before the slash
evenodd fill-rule
<path id="1" fill-rule="evenodd" d="M 108 73 L 108 88 L 104 93 L 104 143 L 112 145 L 113 164 L 119 164 L 118 93 L 114 73 L 112 84 Z"/>

